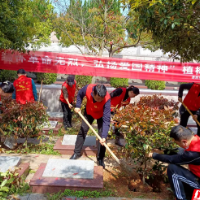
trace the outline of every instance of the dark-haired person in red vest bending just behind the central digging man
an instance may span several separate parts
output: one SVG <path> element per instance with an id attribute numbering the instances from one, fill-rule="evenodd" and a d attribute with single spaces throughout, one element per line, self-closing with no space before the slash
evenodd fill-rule
<path id="1" fill-rule="evenodd" d="M 111 96 L 111 114 L 115 114 L 116 109 L 120 109 L 122 106 L 126 106 L 130 103 L 131 98 L 134 98 L 140 94 L 140 91 L 137 87 L 130 86 L 128 88 L 117 88 L 110 93 Z M 119 129 L 115 126 L 112 127 L 116 135 L 115 144 L 123 146 L 120 142 L 120 132 Z"/>

